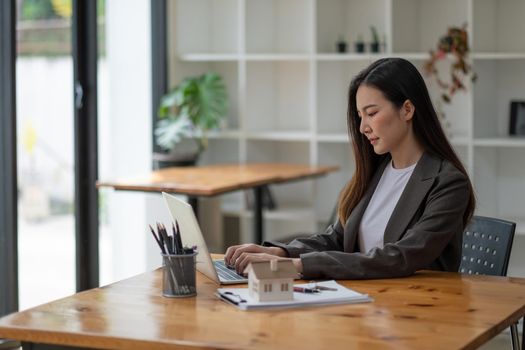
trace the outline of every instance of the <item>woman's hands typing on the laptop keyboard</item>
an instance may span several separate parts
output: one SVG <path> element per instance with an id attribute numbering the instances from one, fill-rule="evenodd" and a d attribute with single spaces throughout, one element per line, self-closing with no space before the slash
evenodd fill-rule
<path id="1" fill-rule="evenodd" d="M 224 256 L 228 266 L 235 266 L 237 273 L 242 274 L 252 261 L 285 260 L 286 251 L 279 247 L 263 247 L 257 244 L 241 244 L 229 247 Z"/>

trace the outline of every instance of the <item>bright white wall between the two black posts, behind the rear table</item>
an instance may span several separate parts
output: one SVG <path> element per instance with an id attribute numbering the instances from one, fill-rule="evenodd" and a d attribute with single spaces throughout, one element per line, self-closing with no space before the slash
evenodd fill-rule
<path id="1" fill-rule="evenodd" d="M 111 166 L 103 173 L 118 178 L 146 173 L 151 166 L 150 1 L 106 4 Z M 147 197 L 136 192 L 108 194 L 114 280 L 147 269 Z"/>

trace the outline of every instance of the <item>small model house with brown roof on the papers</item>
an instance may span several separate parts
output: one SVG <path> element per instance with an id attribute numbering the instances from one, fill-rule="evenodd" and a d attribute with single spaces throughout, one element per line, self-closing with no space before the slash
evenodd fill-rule
<path id="1" fill-rule="evenodd" d="M 250 263 L 248 290 L 256 301 L 293 300 L 293 280 L 297 271 L 290 260 Z"/>

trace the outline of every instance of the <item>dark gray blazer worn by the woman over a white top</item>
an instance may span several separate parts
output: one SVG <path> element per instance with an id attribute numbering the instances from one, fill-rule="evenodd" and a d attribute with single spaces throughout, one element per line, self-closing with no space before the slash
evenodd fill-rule
<path id="1" fill-rule="evenodd" d="M 424 153 L 392 212 L 384 247 L 359 252 L 359 223 L 390 157 L 374 175 L 363 199 L 344 227 L 339 220 L 326 232 L 299 238 L 281 247 L 301 258 L 303 277 L 365 279 L 402 277 L 420 269 L 457 271 L 461 257 L 463 214 L 469 199 L 468 179 L 450 162 Z"/>

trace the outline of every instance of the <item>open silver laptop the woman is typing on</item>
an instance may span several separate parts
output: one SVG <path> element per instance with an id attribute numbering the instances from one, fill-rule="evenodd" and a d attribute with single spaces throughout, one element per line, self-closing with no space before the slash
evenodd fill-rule
<path id="1" fill-rule="evenodd" d="M 177 220 L 179 223 L 182 243 L 185 246 L 197 247 L 197 271 L 217 284 L 248 283 L 245 276 L 228 268 L 224 260 L 213 260 L 211 258 L 191 205 L 165 192 L 162 192 L 162 196 L 173 221 Z"/>

